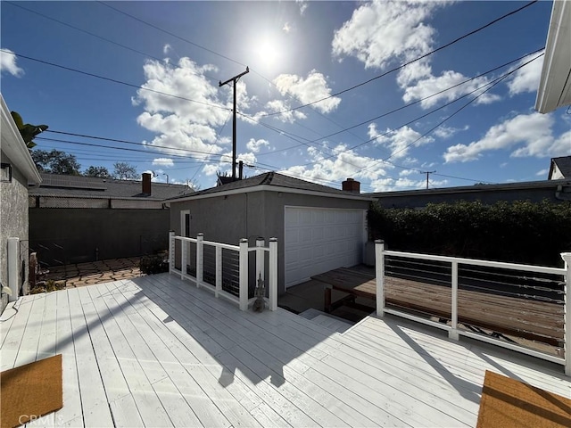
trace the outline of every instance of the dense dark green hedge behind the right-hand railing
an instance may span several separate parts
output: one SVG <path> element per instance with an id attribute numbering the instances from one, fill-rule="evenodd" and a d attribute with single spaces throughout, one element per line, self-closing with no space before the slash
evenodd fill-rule
<path id="1" fill-rule="evenodd" d="M 426 209 L 368 210 L 369 237 L 387 248 L 432 254 L 562 266 L 571 251 L 571 202 L 455 202 Z"/>

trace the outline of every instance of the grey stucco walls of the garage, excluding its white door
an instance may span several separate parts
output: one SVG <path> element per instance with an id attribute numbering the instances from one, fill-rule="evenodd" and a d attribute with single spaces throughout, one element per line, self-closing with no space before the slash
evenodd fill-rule
<path id="1" fill-rule="evenodd" d="M 170 227 L 180 235 L 180 212 L 190 210 L 190 236 L 204 234 L 207 241 L 237 245 L 248 238 L 277 238 L 278 291 L 285 292 L 284 208 L 301 206 L 367 210 L 369 202 L 281 192 L 252 192 L 175 202 L 170 206 Z"/>

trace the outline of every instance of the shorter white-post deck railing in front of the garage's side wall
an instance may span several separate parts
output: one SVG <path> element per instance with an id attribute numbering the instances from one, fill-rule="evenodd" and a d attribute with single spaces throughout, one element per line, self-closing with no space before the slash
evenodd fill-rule
<path id="1" fill-rule="evenodd" d="M 177 243 L 180 243 L 179 249 Z M 213 263 L 207 260 L 210 258 L 205 257 L 205 252 L 209 249 L 210 253 L 213 251 Z M 225 257 L 223 251 L 228 253 Z M 192 260 L 191 253 L 194 256 Z M 233 301 L 241 310 L 248 309 L 256 299 L 251 297 L 251 294 L 257 280 L 261 278 L 268 291 L 268 296 L 265 298 L 266 307 L 270 310 L 277 309 L 276 238 L 269 239 L 268 247 L 265 246 L 263 238 L 256 240 L 255 247 L 249 247 L 245 238 L 241 239 L 238 245 L 230 245 L 204 241 L 203 234 L 198 234 L 196 238 L 188 238 L 170 232 L 169 254 L 170 274 L 178 275 L 181 279 L 193 282 L 197 287 L 210 290 L 216 297 Z M 255 258 L 255 277 L 249 272 L 251 254 L 252 258 Z M 252 259 L 252 266 L 253 261 Z M 180 268 L 176 268 L 177 265 Z M 191 266 L 193 268 L 190 268 Z"/>

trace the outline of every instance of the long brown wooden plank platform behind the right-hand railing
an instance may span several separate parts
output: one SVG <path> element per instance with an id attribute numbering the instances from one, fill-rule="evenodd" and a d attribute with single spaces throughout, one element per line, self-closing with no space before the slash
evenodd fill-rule
<path id="1" fill-rule="evenodd" d="M 326 285 L 325 311 L 344 304 L 360 308 L 357 297 L 377 299 L 374 276 L 351 268 L 337 268 L 311 276 Z M 331 301 L 332 290 L 348 296 Z M 426 284 L 385 276 L 385 302 L 388 305 L 451 319 L 451 287 Z M 537 300 L 517 299 L 485 292 L 458 291 L 459 323 L 475 325 L 497 333 L 559 346 L 563 341 L 563 305 Z"/>

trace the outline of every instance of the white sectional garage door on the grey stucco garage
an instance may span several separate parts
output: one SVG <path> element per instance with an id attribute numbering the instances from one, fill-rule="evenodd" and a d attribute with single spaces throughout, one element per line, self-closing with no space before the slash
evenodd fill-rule
<path id="1" fill-rule="evenodd" d="M 285 287 L 362 261 L 364 210 L 285 207 Z"/>

